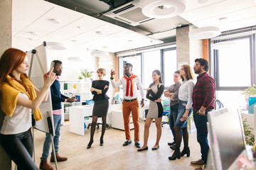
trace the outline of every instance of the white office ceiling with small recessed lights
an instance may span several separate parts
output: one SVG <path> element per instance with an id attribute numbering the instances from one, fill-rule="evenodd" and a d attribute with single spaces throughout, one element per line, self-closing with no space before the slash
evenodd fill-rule
<path id="1" fill-rule="evenodd" d="M 95 6 L 97 1 L 93 2 L 84 1 Z M 175 36 L 178 23 L 192 23 L 198 28 L 218 26 L 222 31 L 256 25 L 255 0 L 208 0 L 204 4 L 199 4 L 198 0 L 186 0 L 186 11 L 181 15 L 154 19 L 137 26 L 151 30 L 154 34 L 149 36 L 146 36 L 146 31 L 136 33 L 48 1 L 12 0 L 12 4 L 12 46 L 21 50 L 31 50 L 43 41 L 54 41 L 64 42 L 68 47 L 119 52 L 162 43 L 156 39 Z M 52 23 L 53 19 L 60 23 Z"/>

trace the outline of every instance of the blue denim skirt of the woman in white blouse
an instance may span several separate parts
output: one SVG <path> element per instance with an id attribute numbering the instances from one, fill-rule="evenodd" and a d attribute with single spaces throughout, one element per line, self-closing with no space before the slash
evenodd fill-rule
<path id="1" fill-rule="evenodd" d="M 188 101 L 180 101 L 180 103 L 178 104 L 178 116 L 174 125 L 179 128 L 186 128 L 188 126 L 188 120 L 184 120 L 182 122 L 180 120 L 186 111 L 186 103 L 188 103 Z M 192 108 L 188 111 L 188 117 L 191 115 L 191 113 Z"/>

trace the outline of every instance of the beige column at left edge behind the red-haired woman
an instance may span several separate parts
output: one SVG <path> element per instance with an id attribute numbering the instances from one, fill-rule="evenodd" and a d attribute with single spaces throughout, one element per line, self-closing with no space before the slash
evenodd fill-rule
<path id="1" fill-rule="evenodd" d="M 11 47 L 11 0 L 0 1 L 0 56 Z M 1 107 L 1 106 L 0 106 Z M 4 120 L 4 113 L 0 112 L 0 127 Z M 11 159 L 0 145 L 0 169 L 11 170 Z"/>

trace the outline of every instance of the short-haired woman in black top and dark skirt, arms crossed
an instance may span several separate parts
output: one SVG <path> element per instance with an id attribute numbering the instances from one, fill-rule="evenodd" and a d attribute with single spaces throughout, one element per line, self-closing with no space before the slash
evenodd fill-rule
<path id="1" fill-rule="evenodd" d="M 109 89 L 110 82 L 103 79 L 105 77 L 105 69 L 97 69 L 98 79 L 92 81 L 92 87 L 90 91 L 94 94 L 92 101 L 95 101 L 92 111 L 92 126 L 90 133 L 90 142 L 87 145 L 89 149 L 93 143 L 93 135 L 95 133 L 95 127 L 97 124 L 97 118 L 102 117 L 102 134 L 100 136 L 100 146 L 104 145 L 103 136 L 107 126 L 107 110 L 109 108 L 109 97 L 107 96 L 107 90 Z"/>

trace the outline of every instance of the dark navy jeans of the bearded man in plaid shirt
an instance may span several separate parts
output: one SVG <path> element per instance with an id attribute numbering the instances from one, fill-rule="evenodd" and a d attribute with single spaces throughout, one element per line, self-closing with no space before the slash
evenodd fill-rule
<path id="1" fill-rule="evenodd" d="M 208 130 L 206 123 L 208 122 L 207 115 L 199 115 L 197 109 L 193 109 L 193 120 L 195 121 L 197 131 L 197 141 L 201 147 L 201 159 L 206 164 L 209 145 L 208 145 Z M 207 113 L 207 111 L 206 111 Z"/>

